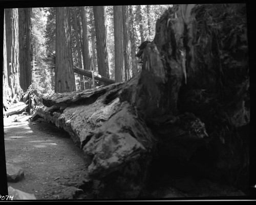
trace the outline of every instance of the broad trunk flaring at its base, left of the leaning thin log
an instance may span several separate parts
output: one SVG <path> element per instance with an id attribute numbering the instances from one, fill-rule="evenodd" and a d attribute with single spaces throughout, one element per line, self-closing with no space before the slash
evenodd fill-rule
<path id="1" fill-rule="evenodd" d="M 56 8 L 56 66 L 55 92 L 76 90 L 70 46 L 70 11 L 68 7 Z"/>

